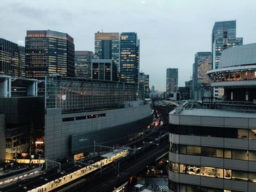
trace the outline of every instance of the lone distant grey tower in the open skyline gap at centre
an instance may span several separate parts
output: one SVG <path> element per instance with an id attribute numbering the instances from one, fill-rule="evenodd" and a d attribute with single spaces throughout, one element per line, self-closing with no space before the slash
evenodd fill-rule
<path id="1" fill-rule="evenodd" d="M 174 93 L 178 90 L 178 69 L 166 69 L 166 92 Z"/>

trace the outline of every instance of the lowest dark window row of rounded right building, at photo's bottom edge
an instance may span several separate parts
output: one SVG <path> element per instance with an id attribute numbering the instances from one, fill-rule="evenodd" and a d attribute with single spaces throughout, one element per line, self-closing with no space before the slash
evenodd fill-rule
<path id="1" fill-rule="evenodd" d="M 203 186 L 197 186 L 197 185 L 188 185 L 184 183 L 176 183 L 173 182 L 172 180 L 169 180 L 168 183 L 169 188 L 172 191 L 175 192 L 236 192 L 236 191 L 230 191 L 227 189 L 218 189 L 218 188 L 207 188 Z"/>

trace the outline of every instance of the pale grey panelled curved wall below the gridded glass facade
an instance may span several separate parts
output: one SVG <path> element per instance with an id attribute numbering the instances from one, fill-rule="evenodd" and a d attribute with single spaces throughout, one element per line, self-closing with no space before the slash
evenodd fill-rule
<path id="1" fill-rule="evenodd" d="M 83 115 L 103 114 L 105 117 L 75 120 Z M 121 126 L 151 115 L 149 104 L 117 110 L 61 114 L 61 109 L 48 109 L 45 115 L 45 158 L 57 160 L 71 154 L 71 137 Z M 63 121 L 63 118 L 74 120 Z M 127 131 L 128 133 L 128 131 Z M 85 146 L 86 148 L 86 146 Z"/>

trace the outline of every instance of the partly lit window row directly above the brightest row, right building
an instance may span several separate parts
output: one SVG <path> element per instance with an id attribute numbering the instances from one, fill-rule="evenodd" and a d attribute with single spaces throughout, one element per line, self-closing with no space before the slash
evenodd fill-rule
<path id="1" fill-rule="evenodd" d="M 184 155 L 201 155 L 214 158 L 233 158 L 238 160 L 256 161 L 255 150 L 170 144 L 170 152 Z"/>

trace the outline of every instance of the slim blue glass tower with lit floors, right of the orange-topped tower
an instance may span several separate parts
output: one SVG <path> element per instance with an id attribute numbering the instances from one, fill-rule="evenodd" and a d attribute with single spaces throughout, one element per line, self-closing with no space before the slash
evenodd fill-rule
<path id="1" fill-rule="evenodd" d="M 120 80 L 137 83 L 140 70 L 140 41 L 135 32 L 121 33 Z"/>

